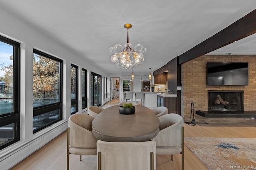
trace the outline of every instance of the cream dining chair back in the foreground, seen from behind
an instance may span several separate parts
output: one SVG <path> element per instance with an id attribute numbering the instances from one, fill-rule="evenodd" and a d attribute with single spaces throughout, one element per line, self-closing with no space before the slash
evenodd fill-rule
<path id="1" fill-rule="evenodd" d="M 156 170 L 156 142 L 97 141 L 98 170 Z"/>

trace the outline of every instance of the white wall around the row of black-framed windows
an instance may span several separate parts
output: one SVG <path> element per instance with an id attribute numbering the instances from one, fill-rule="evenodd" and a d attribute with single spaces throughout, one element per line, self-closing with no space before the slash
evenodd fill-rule
<path id="1" fill-rule="evenodd" d="M 78 66 L 79 71 L 86 68 L 88 72 L 88 89 L 90 89 L 90 72 L 100 74 L 102 78 L 107 74 L 97 68 L 93 63 L 89 63 L 83 56 L 78 56 L 74 51 L 70 51 L 58 42 L 41 33 L 34 27 L 22 22 L 9 12 L 0 7 L 0 35 L 21 43 L 21 89 L 20 90 L 20 141 L 0 150 L 0 167 L 9 169 L 29 154 L 39 149 L 50 140 L 58 136 L 68 127 L 68 117 L 70 117 L 70 64 Z M 32 134 L 33 117 L 33 48 L 49 53 L 63 60 L 63 120 Z M 79 74 L 81 76 L 81 73 Z M 109 78 L 108 78 L 109 80 Z M 102 83 L 103 85 L 103 83 Z M 81 82 L 79 84 L 79 89 Z M 108 86 L 109 87 L 109 86 Z M 102 87 L 103 89 L 103 87 Z M 82 103 L 82 92 L 80 90 L 79 102 Z M 87 93 L 88 106 L 90 105 L 90 90 Z M 103 99 L 103 97 L 102 97 Z M 103 102 L 102 102 L 103 103 Z M 82 106 L 79 113 L 83 112 Z"/>

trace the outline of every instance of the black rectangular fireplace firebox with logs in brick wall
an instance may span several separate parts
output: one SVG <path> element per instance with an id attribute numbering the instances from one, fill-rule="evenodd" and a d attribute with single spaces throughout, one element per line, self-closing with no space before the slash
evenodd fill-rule
<path id="1" fill-rule="evenodd" d="M 208 111 L 244 111 L 243 91 L 208 91 Z"/>

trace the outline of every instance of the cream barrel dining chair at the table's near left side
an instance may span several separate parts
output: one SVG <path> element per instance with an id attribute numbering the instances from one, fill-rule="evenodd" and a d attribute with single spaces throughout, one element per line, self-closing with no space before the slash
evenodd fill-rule
<path id="1" fill-rule="evenodd" d="M 97 140 L 92 135 L 92 120 L 94 117 L 77 113 L 68 119 L 67 135 L 67 170 L 69 169 L 69 154 L 96 155 Z"/>

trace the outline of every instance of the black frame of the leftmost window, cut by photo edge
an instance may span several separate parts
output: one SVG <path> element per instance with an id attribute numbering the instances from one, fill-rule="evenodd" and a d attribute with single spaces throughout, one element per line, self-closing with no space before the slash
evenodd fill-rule
<path id="1" fill-rule="evenodd" d="M 0 115 L 0 127 L 13 124 L 13 139 L 0 145 L 0 150 L 20 141 L 20 43 L 0 35 L 0 41 L 13 46 L 13 110 Z"/>

